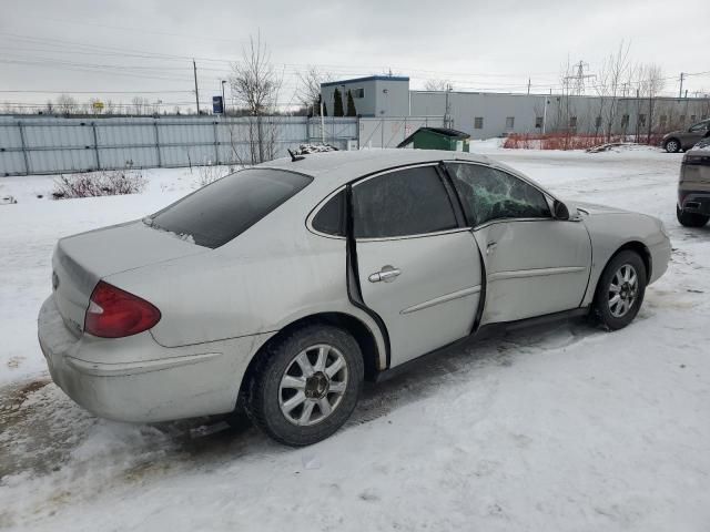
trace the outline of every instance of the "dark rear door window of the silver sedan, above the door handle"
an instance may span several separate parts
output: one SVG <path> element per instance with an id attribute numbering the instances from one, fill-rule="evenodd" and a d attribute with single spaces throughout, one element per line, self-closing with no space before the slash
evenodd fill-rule
<path id="1" fill-rule="evenodd" d="M 423 235 L 457 227 L 434 166 L 399 170 L 353 186 L 355 238 Z"/>

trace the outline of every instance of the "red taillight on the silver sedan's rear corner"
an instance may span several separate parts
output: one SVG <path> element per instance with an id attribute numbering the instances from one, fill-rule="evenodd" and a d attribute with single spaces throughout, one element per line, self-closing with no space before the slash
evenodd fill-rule
<path id="1" fill-rule="evenodd" d="M 122 338 L 150 329 L 160 321 L 155 306 L 100 280 L 91 294 L 84 331 L 102 338 Z"/>

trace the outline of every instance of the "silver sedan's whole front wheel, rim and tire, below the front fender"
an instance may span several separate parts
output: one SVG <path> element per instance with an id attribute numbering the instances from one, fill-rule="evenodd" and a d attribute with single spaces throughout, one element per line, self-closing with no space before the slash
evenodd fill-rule
<path id="1" fill-rule="evenodd" d="M 594 315 L 609 330 L 629 325 L 643 303 L 646 265 L 638 253 L 623 250 L 607 265 L 594 301 Z"/>

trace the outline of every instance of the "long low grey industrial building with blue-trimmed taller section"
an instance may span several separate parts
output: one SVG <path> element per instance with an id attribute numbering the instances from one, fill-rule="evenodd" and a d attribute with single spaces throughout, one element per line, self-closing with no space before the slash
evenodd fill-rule
<path id="1" fill-rule="evenodd" d="M 356 98 L 361 116 L 445 116 L 445 125 L 468 133 L 471 139 L 490 139 L 510 133 L 571 131 L 601 134 L 613 114 L 613 134 L 665 133 L 710 116 L 710 98 L 514 94 L 462 91 L 412 91 L 409 79 L 375 75 L 321 85 L 329 112 L 335 88 L 345 98 Z M 617 108 L 609 113 L 611 105 Z"/>

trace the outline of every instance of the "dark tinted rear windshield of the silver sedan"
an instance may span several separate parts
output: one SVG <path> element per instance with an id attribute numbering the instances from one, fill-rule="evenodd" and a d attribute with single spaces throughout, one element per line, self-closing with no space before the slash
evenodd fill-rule
<path id="1" fill-rule="evenodd" d="M 183 197 L 145 218 L 145 223 L 200 246 L 220 247 L 311 181 L 312 177 L 280 170 L 244 170 Z"/>

